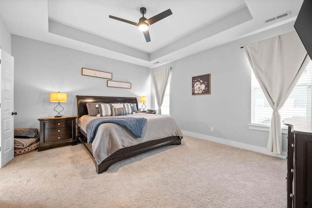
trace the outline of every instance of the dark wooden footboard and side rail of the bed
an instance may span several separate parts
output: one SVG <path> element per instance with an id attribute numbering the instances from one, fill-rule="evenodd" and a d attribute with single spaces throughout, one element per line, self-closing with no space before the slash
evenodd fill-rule
<path id="1" fill-rule="evenodd" d="M 132 157 L 139 155 L 141 153 L 145 153 L 151 150 L 154 150 L 159 147 L 163 147 L 170 144 L 181 144 L 181 138 L 180 137 L 167 137 L 163 139 L 157 139 L 152 141 L 146 141 L 141 144 L 137 144 L 135 146 L 126 147 L 123 149 L 118 150 L 111 156 L 107 157 L 101 164 L 97 164 L 95 161 L 95 158 L 92 153 L 92 145 L 87 143 L 86 137 L 83 135 L 83 133 L 80 132 L 80 134 L 77 135 L 77 140 L 83 144 L 89 155 L 94 161 L 94 164 L 96 166 L 97 173 L 103 173 L 107 171 L 107 169 L 113 165 L 114 163 Z"/>

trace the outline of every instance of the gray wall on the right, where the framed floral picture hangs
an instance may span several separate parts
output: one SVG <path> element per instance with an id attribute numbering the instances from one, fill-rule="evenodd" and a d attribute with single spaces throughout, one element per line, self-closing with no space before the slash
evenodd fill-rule
<path id="1" fill-rule="evenodd" d="M 156 68 L 172 67 L 170 114 L 183 133 L 232 146 L 244 144 L 247 149 L 268 153 L 269 132 L 250 130 L 248 126 L 252 69 L 240 47 L 290 31 L 294 31 L 293 22 Z M 208 73 L 211 95 L 192 96 L 192 77 Z M 283 152 L 287 152 L 286 144 L 283 135 Z"/>

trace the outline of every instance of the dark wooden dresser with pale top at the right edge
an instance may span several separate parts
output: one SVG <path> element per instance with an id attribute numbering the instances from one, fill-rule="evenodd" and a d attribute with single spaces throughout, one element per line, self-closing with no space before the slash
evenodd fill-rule
<path id="1" fill-rule="evenodd" d="M 283 123 L 288 125 L 287 207 L 312 208 L 312 118 Z"/>

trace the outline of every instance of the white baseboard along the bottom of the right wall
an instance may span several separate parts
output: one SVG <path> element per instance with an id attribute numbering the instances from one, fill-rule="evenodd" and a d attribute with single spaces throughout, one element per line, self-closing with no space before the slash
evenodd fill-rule
<path id="1" fill-rule="evenodd" d="M 251 144 L 245 144 L 245 143 L 241 143 L 241 142 L 237 142 L 237 141 L 231 141 L 228 139 L 221 139 L 221 138 L 217 138 L 217 137 L 211 137 L 211 136 L 207 136 L 207 135 L 203 135 L 203 134 L 197 134 L 197 133 L 193 133 L 193 132 L 187 132 L 187 131 L 182 131 L 182 133 L 183 133 L 183 135 L 187 135 L 190 137 L 195 137 L 198 139 L 204 139 L 207 141 L 213 141 L 216 143 L 241 148 L 244 150 L 250 150 L 250 151 L 253 151 L 256 153 L 261 153 L 261 154 L 265 154 L 265 155 L 269 155 L 269 156 L 276 156 L 276 157 L 283 158 L 283 159 L 286 159 L 286 156 L 287 156 L 287 152 L 282 152 L 281 155 L 274 155 L 273 153 L 269 152 L 267 148 L 254 146 Z"/>

